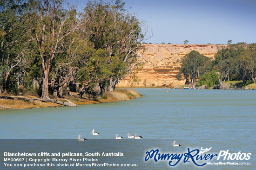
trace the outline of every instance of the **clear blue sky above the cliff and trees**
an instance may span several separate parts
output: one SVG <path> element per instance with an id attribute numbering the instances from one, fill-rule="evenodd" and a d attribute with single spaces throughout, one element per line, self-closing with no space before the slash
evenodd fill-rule
<path id="1" fill-rule="evenodd" d="M 88 0 L 68 0 L 85 7 Z M 107 0 L 105 0 L 107 1 Z M 256 43 L 256 0 L 122 0 L 153 31 L 147 43 Z"/>

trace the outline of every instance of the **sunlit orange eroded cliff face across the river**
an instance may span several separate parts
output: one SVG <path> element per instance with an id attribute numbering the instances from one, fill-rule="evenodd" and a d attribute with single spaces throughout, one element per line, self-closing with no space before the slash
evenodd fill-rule
<path id="1" fill-rule="evenodd" d="M 214 58 L 218 50 L 227 45 L 214 44 L 143 44 L 138 51 L 138 61 L 143 62 L 142 69 L 136 70 L 136 78 L 130 75 L 118 83 L 117 87 L 173 87 L 185 84 L 178 81 L 181 58 L 192 50 Z"/>

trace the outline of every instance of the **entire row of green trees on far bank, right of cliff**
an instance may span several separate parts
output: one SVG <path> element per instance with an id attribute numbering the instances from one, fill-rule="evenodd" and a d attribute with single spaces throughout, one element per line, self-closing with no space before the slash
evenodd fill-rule
<path id="1" fill-rule="evenodd" d="M 229 44 L 219 50 L 214 59 L 203 56 L 198 51 L 191 51 L 182 57 L 182 67 L 176 75 L 186 83 L 217 85 L 223 88 L 223 83 L 229 80 L 256 81 L 256 43 Z"/>

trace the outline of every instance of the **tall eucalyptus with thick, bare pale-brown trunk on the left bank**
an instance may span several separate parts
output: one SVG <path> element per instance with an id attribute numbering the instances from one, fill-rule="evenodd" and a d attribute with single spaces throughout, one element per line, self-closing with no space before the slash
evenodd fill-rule
<path id="1" fill-rule="evenodd" d="M 77 18 L 73 8 L 65 9 L 63 0 L 40 0 L 34 7 L 34 19 L 31 20 L 31 39 L 40 55 L 43 78 L 40 84 L 41 98 L 48 97 L 49 73 L 54 59 L 63 53 L 65 38 L 85 23 L 85 19 Z"/>

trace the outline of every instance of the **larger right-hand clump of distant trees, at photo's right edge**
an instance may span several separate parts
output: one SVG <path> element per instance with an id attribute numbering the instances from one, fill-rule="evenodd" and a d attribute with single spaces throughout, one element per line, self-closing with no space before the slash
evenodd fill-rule
<path id="1" fill-rule="evenodd" d="M 214 67 L 218 71 L 220 86 L 225 80 L 255 81 L 256 45 L 237 43 L 218 51 Z M 240 77 L 240 78 L 239 78 Z"/>

